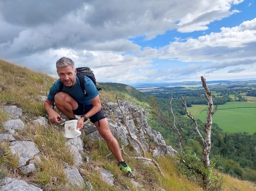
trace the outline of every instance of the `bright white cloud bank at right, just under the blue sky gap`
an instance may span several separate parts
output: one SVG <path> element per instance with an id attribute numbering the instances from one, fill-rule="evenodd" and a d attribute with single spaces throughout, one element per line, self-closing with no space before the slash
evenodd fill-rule
<path id="1" fill-rule="evenodd" d="M 190 38 L 186 42 L 172 42 L 159 48 L 160 59 L 178 58 L 183 62 L 219 62 L 233 59 L 256 59 L 256 18 L 221 32 Z"/>

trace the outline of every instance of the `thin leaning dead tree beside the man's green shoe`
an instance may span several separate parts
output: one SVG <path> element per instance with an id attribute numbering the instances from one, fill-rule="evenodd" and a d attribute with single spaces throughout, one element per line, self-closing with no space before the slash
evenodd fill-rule
<path id="1" fill-rule="evenodd" d="M 137 143 L 137 144 L 139 145 L 140 150 L 141 150 L 141 152 L 142 152 L 142 157 L 132 157 L 132 158 L 133 158 L 133 159 L 139 159 L 139 160 L 147 160 L 147 161 L 153 162 L 153 164 L 156 166 L 156 168 L 159 170 L 159 172 L 160 172 L 163 176 L 165 176 L 164 173 L 162 172 L 162 170 L 160 169 L 159 164 L 158 164 L 154 159 L 149 159 L 149 158 L 147 158 L 145 149 L 143 148 L 143 145 L 140 143 L 139 140 L 135 139 L 135 138 L 132 136 L 131 131 L 130 131 L 130 129 L 129 129 L 129 125 L 127 124 L 127 118 L 126 118 L 126 116 L 124 115 L 124 112 L 123 112 L 123 110 L 122 110 L 121 107 L 120 107 L 120 104 L 119 104 L 119 100 L 118 100 L 117 95 L 116 95 L 116 101 L 117 101 L 117 105 L 118 105 L 118 107 L 119 107 L 119 109 L 120 109 L 120 111 L 121 111 L 121 113 L 122 113 L 122 115 L 123 115 L 124 125 L 125 125 L 125 127 L 126 127 L 126 129 L 127 129 L 127 131 L 128 131 L 128 136 L 129 136 L 133 141 L 135 141 L 135 143 Z M 127 155 L 127 154 L 124 152 L 123 146 L 121 147 L 121 151 L 124 153 L 124 155 Z"/>

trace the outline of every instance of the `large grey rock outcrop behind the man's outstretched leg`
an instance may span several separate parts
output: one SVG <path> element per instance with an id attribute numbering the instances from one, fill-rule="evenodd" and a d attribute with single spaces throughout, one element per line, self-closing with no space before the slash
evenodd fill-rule
<path id="1" fill-rule="evenodd" d="M 154 156 L 162 156 L 170 153 L 175 156 L 175 150 L 171 146 L 166 145 L 163 136 L 149 127 L 147 123 L 147 112 L 144 109 L 136 107 L 136 105 L 130 103 L 129 101 L 123 100 L 119 101 L 120 108 L 124 113 L 125 119 L 117 105 L 117 103 L 108 102 L 103 105 L 104 111 L 107 115 L 115 115 L 117 117 L 117 123 L 115 121 L 109 120 L 109 128 L 112 134 L 120 139 L 122 144 L 128 145 L 132 144 L 135 148 L 136 154 L 141 156 L 139 145 L 133 141 L 127 134 L 127 127 L 124 121 L 126 121 L 129 131 L 133 138 L 140 140 L 145 150 L 148 150 L 147 141 L 151 141 L 156 145 L 155 151 L 153 151 Z M 96 136 L 90 136 L 96 138 Z"/>

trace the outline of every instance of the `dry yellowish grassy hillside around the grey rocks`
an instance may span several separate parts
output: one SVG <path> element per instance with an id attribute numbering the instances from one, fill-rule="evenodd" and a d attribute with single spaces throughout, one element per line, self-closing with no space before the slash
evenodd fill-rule
<path id="1" fill-rule="evenodd" d="M 0 133 L 4 133 L 3 122 L 9 119 L 9 116 L 2 111 L 4 105 L 17 105 L 23 109 L 23 115 L 32 118 L 46 116 L 43 103 L 38 96 L 45 95 L 49 91 L 56 79 L 46 74 L 30 71 L 27 68 L 16 66 L 0 60 Z M 115 101 L 115 95 L 120 99 L 127 99 L 136 105 L 142 105 L 149 109 L 147 97 L 143 97 L 139 91 L 124 84 L 100 83 L 103 90 L 100 91 L 101 101 Z M 112 86 L 113 85 L 113 86 Z M 67 155 L 65 148 L 65 139 L 62 136 L 61 128 L 55 124 L 50 128 L 42 128 L 37 125 L 26 125 L 23 133 L 15 135 L 16 140 L 29 139 L 36 143 L 40 149 L 40 155 L 43 159 L 38 163 L 38 172 L 34 174 L 23 174 L 17 170 L 17 159 L 10 155 L 0 155 L 0 178 L 5 176 L 15 177 L 25 180 L 44 190 L 64 190 L 67 182 L 62 173 L 61 161 L 73 164 L 73 158 Z M 125 156 L 128 164 L 135 171 L 134 180 L 143 185 L 143 188 L 135 188 L 131 178 L 127 178 L 117 168 L 113 156 L 106 157 L 109 154 L 107 145 L 104 142 L 94 141 L 90 143 L 86 137 L 85 144 L 89 144 L 87 156 L 90 157 L 90 166 L 84 165 L 85 181 L 89 181 L 93 190 L 202 190 L 195 182 L 189 181 L 186 177 L 179 174 L 176 169 L 175 159 L 171 156 L 158 157 L 156 161 L 166 176 L 162 176 L 154 166 L 147 165 L 140 160 L 131 159 Z M 0 148 L 8 149 L 6 144 L 0 143 Z M 126 147 L 125 152 L 129 156 L 134 156 L 135 152 L 131 147 Z M 149 153 L 147 153 L 149 155 Z M 99 174 L 94 170 L 95 166 L 104 167 L 115 176 L 115 186 L 109 186 L 101 180 Z M 255 190 L 255 184 L 248 181 L 240 181 L 236 178 L 224 175 L 223 187 L 221 190 Z M 51 177 L 57 177 L 56 182 L 51 181 Z M 48 188 L 48 189 L 46 189 Z M 86 190 L 86 189 L 82 189 Z M 79 191 L 79 190 L 78 190 Z"/>

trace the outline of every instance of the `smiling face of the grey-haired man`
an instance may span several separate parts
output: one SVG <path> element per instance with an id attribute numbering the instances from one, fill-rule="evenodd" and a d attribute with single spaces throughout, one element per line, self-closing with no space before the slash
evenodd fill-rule
<path id="1" fill-rule="evenodd" d="M 76 69 L 72 70 L 71 66 L 58 67 L 57 73 L 66 87 L 72 87 L 76 83 Z"/>

